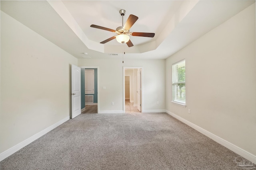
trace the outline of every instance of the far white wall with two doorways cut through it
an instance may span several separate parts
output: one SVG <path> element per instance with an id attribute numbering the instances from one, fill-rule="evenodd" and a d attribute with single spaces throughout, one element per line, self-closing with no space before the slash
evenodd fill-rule
<path id="1" fill-rule="evenodd" d="M 123 66 L 142 66 L 144 112 L 165 110 L 165 60 L 78 59 L 78 66 L 99 66 L 100 113 L 123 111 Z M 103 86 L 106 89 L 103 89 Z M 157 105 L 156 102 L 159 101 Z M 114 102 L 114 105 L 111 105 Z"/>

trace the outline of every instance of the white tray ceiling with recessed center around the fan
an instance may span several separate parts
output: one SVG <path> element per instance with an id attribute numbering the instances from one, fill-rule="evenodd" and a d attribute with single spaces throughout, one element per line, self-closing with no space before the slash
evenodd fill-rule
<path id="1" fill-rule="evenodd" d="M 65 0 L 3 1 L 1 10 L 64 49 L 74 57 L 166 59 L 211 29 L 214 29 L 255 0 Z M 130 32 L 155 33 L 155 37 L 130 36 L 128 47 L 110 31 L 90 27 L 95 24 L 110 29 L 122 25 L 119 10 L 138 16 Z M 83 53 L 88 53 L 84 55 Z M 118 54 L 118 55 L 109 55 Z"/>

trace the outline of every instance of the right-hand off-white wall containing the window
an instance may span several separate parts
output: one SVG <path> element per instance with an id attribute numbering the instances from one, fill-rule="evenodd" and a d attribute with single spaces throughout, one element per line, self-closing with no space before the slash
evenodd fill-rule
<path id="1" fill-rule="evenodd" d="M 166 109 L 254 156 L 255 45 L 254 3 L 166 59 Z M 182 59 L 187 107 L 171 103 L 172 64 Z"/>

